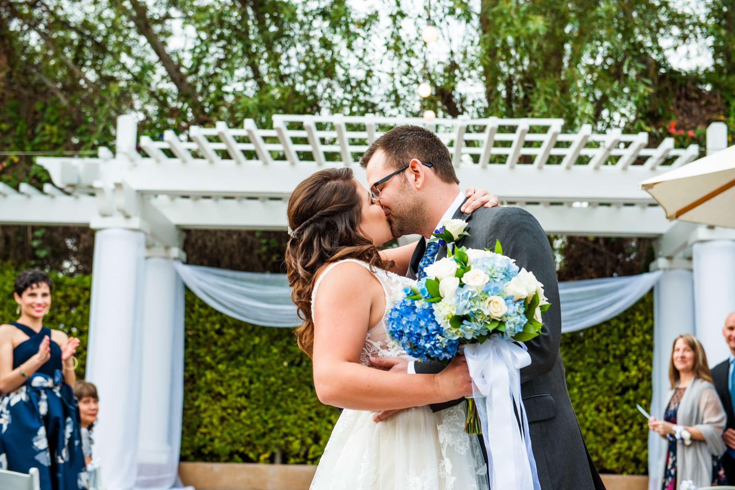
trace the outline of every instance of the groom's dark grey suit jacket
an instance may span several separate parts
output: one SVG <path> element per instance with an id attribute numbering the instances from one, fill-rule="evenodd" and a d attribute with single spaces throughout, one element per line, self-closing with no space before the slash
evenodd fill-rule
<path id="1" fill-rule="evenodd" d="M 541 334 L 526 342 L 531 365 L 520 370 L 521 396 L 528 415 L 531 445 L 536 458 L 542 490 L 604 489 L 595 464 L 587 452 L 576 415 L 567 392 L 559 342 L 562 336 L 562 315 L 559 287 L 556 284 L 554 262 L 548 237 L 536 218 L 517 207 L 476 209 L 471 215 L 457 210 L 454 218 L 467 221 L 467 233 L 458 245 L 467 248 L 495 247 L 499 239 L 503 254 L 526 267 L 544 284 L 551 307 L 544 314 Z M 419 240 L 409 266 L 410 278 L 416 277 L 418 263 L 426 249 Z M 440 248 L 437 260 L 447 255 Z M 433 374 L 444 366 L 434 362 L 417 362 L 417 373 Z M 434 411 L 456 405 L 462 400 L 433 405 Z"/>

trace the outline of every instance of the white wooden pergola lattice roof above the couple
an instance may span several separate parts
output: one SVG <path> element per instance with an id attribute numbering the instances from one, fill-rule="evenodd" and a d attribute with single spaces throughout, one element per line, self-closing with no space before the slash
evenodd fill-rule
<path id="1" fill-rule="evenodd" d="M 359 156 L 401 124 L 436 132 L 463 187 L 487 187 L 525 207 L 549 234 L 664 233 L 670 223 L 638 183 L 699 155 L 697 145 L 675 148 L 672 138 L 649 148 L 647 133 L 564 132 L 561 119 L 274 115 L 273 129 L 245 120 L 243 128 L 216 123 L 183 139 L 169 130 L 138 140 L 135 119 L 122 116 L 117 154 L 39 158 L 56 187 L 0 187 L 0 223 L 140 226 L 163 245 L 185 228 L 283 229 L 296 184 L 341 166 L 367 184 Z"/>

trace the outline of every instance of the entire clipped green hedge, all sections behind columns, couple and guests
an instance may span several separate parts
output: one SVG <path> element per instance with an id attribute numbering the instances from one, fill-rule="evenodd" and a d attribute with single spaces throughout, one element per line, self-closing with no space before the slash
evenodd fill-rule
<path id="1" fill-rule="evenodd" d="M 15 319 L 12 279 L 0 265 L 2 321 Z M 90 277 L 54 277 L 48 325 L 79 336 L 84 376 Z M 233 320 L 186 296 L 182 461 L 318 461 L 337 411 L 319 403 L 311 361 L 289 328 Z M 646 295 L 606 323 L 562 336 L 567 385 L 589 453 L 603 472 L 647 471 L 645 423 L 635 403 L 651 397 L 653 300 Z M 104 414 L 104 400 L 102 400 Z"/>

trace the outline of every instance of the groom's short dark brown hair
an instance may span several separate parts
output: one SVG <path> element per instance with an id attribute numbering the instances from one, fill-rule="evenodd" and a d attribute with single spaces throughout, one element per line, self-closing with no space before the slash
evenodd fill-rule
<path id="1" fill-rule="evenodd" d="M 395 126 L 373 141 L 362 155 L 360 166 L 368 167 L 368 162 L 378 150 L 384 151 L 387 165 L 395 170 L 408 165 L 415 158 L 431 163 L 437 176 L 447 184 L 459 184 L 449 148 L 436 134 L 421 126 Z"/>

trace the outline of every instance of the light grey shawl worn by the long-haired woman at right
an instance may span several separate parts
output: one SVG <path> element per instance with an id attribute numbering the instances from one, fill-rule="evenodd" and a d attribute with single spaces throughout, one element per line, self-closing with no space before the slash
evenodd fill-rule
<path id="1" fill-rule="evenodd" d="M 678 386 L 678 383 L 677 383 Z M 674 394 L 670 391 L 668 399 Z M 695 486 L 710 486 L 712 484 L 712 456 L 721 456 L 725 453 L 723 432 L 725 430 L 725 410 L 720 403 L 720 397 L 714 390 L 714 385 L 709 381 L 694 378 L 686 387 L 684 396 L 679 403 L 676 412 L 677 425 L 698 428 L 704 441 L 695 441 L 687 446 L 684 442 L 676 443 L 676 483 L 681 484 L 684 480 L 692 480 Z M 664 442 L 664 441 L 662 441 Z M 665 443 L 665 442 L 664 442 Z M 659 463 L 659 475 L 657 484 L 649 488 L 661 488 L 666 453 Z M 652 478 L 656 480 L 656 478 Z"/>

